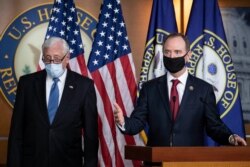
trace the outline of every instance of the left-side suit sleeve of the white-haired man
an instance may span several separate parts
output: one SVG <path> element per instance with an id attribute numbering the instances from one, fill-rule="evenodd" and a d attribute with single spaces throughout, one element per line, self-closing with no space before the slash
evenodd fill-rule
<path id="1" fill-rule="evenodd" d="M 24 122 L 24 93 L 25 84 L 21 77 L 17 87 L 11 127 L 8 140 L 7 167 L 21 167 L 23 122 Z"/>

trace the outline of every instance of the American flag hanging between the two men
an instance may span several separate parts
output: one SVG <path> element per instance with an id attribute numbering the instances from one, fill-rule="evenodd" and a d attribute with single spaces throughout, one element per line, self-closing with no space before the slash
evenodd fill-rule
<path id="1" fill-rule="evenodd" d="M 88 60 L 95 82 L 99 123 L 100 166 L 139 166 L 124 159 L 125 145 L 142 145 L 139 136 L 124 136 L 113 117 L 113 102 L 130 115 L 136 101 L 136 77 L 120 0 L 104 0 Z"/>

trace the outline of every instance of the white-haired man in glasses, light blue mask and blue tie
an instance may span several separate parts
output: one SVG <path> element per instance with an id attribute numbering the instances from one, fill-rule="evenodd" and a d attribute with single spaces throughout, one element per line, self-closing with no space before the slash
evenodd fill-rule
<path id="1" fill-rule="evenodd" d="M 66 68 L 70 55 L 65 40 L 49 38 L 42 51 L 45 70 L 22 76 L 18 83 L 7 166 L 96 167 L 94 83 Z"/>

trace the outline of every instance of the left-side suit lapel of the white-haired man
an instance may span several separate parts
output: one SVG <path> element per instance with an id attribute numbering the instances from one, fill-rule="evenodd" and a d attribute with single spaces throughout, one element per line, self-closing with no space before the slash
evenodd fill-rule
<path id="1" fill-rule="evenodd" d="M 35 81 L 35 95 L 38 98 L 39 103 L 39 112 L 41 113 L 42 117 L 46 121 L 46 124 L 49 125 L 49 116 L 48 116 L 48 109 L 46 104 L 46 71 L 41 71 L 40 75 L 37 75 Z"/>

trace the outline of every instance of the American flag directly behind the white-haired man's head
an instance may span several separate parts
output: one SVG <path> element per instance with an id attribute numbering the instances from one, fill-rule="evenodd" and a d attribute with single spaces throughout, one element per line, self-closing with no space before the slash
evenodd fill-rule
<path id="1" fill-rule="evenodd" d="M 45 38 L 52 36 L 63 38 L 69 44 L 69 68 L 87 76 L 77 10 L 73 0 L 55 0 Z M 44 68 L 42 61 L 39 62 L 39 66 L 40 69 Z"/>

